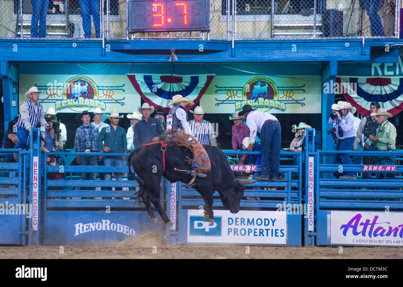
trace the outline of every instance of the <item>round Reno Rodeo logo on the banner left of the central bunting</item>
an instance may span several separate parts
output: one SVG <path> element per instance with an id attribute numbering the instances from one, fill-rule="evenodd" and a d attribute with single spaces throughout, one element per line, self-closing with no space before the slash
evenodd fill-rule
<path id="1" fill-rule="evenodd" d="M 98 100 L 98 87 L 93 80 L 85 76 L 70 78 L 63 86 L 62 100 L 56 101 L 55 111 L 72 109 L 82 112 L 92 108 L 105 111 L 106 105 Z"/>

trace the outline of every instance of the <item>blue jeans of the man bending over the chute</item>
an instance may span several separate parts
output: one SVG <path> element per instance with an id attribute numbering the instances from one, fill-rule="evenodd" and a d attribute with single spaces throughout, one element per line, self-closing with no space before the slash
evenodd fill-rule
<path id="1" fill-rule="evenodd" d="M 278 168 L 280 167 L 280 147 L 280 123 L 267 122 L 263 124 L 262 131 L 260 132 L 260 154 L 262 155 L 262 168 L 260 174 L 263 177 L 278 178 Z"/>

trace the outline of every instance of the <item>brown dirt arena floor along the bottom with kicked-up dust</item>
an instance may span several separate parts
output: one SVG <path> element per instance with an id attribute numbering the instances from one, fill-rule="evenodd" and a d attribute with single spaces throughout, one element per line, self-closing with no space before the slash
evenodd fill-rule
<path id="1" fill-rule="evenodd" d="M 246 245 L 166 246 L 162 236 L 148 234 L 116 245 L 63 246 L 62 249 L 60 246 L 0 246 L 0 259 L 403 259 L 403 247 L 247 248 Z"/>

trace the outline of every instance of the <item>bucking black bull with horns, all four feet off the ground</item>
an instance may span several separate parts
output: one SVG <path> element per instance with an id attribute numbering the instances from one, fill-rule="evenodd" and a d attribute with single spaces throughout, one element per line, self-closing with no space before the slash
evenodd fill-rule
<path id="1" fill-rule="evenodd" d="M 129 172 L 130 165 L 133 170 L 143 180 L 132 176 L 139 182 L 139 193 L 137 200 L 141 197 L 147 208 L 148 216 L 153 221 L 157 221 L 154 212 L 151 210 L 150 201 L 154 204 L 162 220 L 172 225 L 168 216 L 164 213 L 160 203 L 160 181 L 164 176 L 170 182 L 181 181 L 186 184 L 191 182 L 193 176 L 186 171 L 191 170 L 191 164 L 186 160 L 192 159 L 193 154 L 185 147 L 179 147 L 174 142 L 164 142 L 152 145 L 143 145 L 140 149 L 136 149 L 129 156 Z M 196 177 L 193 188 L 198 191 L 204 199 L 204 218 L 206 221 L 214 223 L 213 215 L 213 193 L 218 191 L 222 205 L 229 209 L 231 213 L 239 212 L 239 203 L 243 197 L 245 187 L 243 185 L 255 182 L 255 180 L 235 180 L 234 173 L 224 156 L 224 153 L 218 148 L 211 145 L 203 145 L 210 158 L 211 170 L 207 172 L 207 176 Z M 165 151 L 165 171 L 163 163 L 163 152 Z M 184 171 L 178 171 L 184 170 Z M 144 183 L 143 183 L 144 182 Z"/>

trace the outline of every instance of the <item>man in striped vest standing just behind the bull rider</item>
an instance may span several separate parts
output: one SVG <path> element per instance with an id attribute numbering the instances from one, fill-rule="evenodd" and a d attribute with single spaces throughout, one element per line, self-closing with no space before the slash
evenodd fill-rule
<path id="1" fill-rule="evenodd" d="M 195 107 L 195 111 L 189 111 L 194 114 L 194 119 L 189 121 L 190 129 L 195 138 L 202 145 L 214 145 L 217 146 L 216 136 L 213 132 L 213 126 L 210 122 L 203 119 L 206 112 L 203 111 L 203 107 Z"/>

